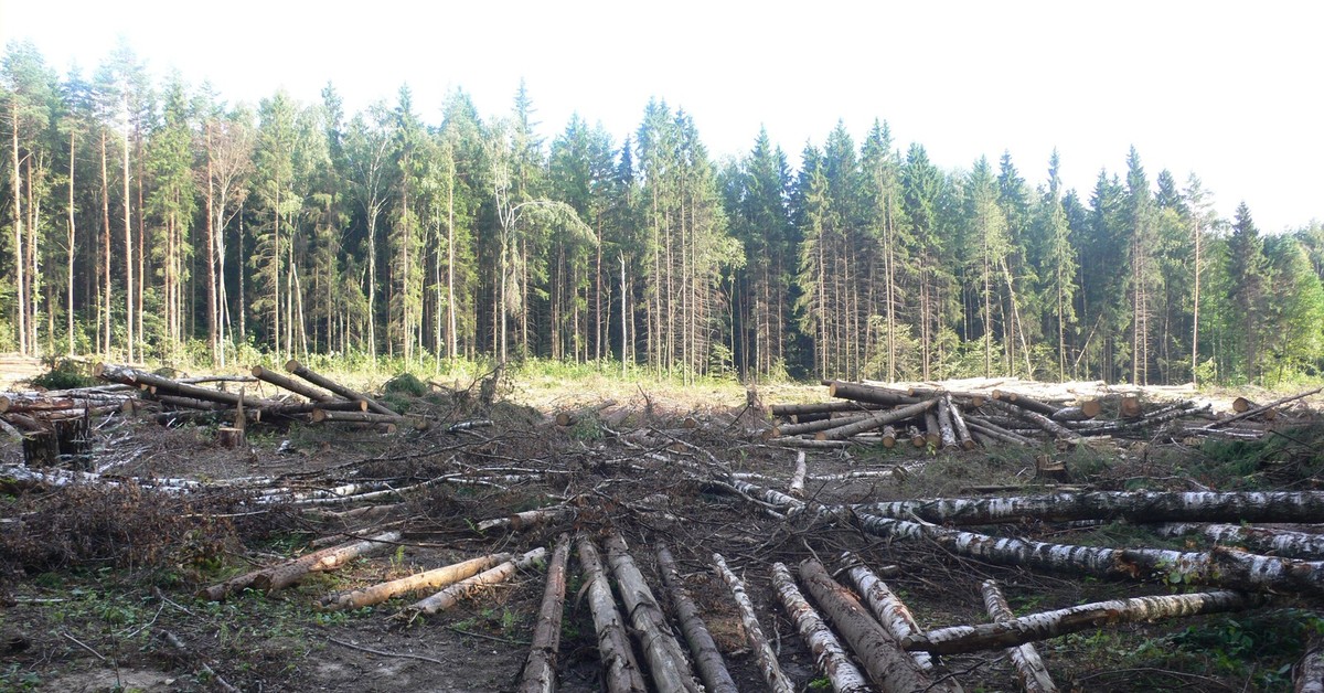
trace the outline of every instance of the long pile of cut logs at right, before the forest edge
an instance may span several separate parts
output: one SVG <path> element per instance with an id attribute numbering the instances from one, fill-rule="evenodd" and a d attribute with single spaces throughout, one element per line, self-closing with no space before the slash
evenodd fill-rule
<path id="1" fill-rule="evenodd" d="M 1245 398 L 1234 412 L 1215 416 L 1209 405 L 1193 400 L 1147 401 L 1137 394 L 1072 399 L 1030 396 L 1001 387 L 945 390 L 891 387 L 826 380 L 830 401 L 776 404 L 777 417 L 768 437 L 800 448 L 845 448 L 910 444 L 947 452 L 972 451 L 1000 444 L 1038 445 L 1055 441 L 1072 445 L 1084 439 L 1190 439 L 1217 436 L 1238 440 L 1262 437 L 1286 417 L 1282 407 L 1304 400 L 1316 388 L 1267 404 Z"/>

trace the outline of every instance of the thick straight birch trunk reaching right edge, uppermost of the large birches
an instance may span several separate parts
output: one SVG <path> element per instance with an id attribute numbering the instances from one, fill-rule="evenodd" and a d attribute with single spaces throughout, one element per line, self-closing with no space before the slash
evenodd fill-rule
<path id="1" fill-rule="evenodd" d="M 1095 492 L 1004 498 L 935 498 L 851 506 L 880 517 L 947 525 L 1041 519 L 1132 522 L 1324 522 L 1324 492 Z"/>

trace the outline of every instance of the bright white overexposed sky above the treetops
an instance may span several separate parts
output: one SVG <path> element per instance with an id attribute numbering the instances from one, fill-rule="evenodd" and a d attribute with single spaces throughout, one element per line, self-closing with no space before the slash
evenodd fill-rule
<path id="1" fill-rule="evenodd" d="M 302 1 L 0 0 L 0 42 L 64 76 L 123 37 L 160 78 L 256 103 L 330 81 L 350 113 L 401 85 L 426 122 L 455 87 L 510 111 L 526 81 L 549 142 L 571 114 L 620 142 L 650 98 L 685 109 L 716 158 L 760 127 L 792 162 L 837 122 L 968 170 L 1010 152 L 1031 184 L 1058 148 L 1088 200 L 1099 171 L 1196 174 L 1266 232 L 1324 220 L 1324 3 L 1311 1 Z"/>

